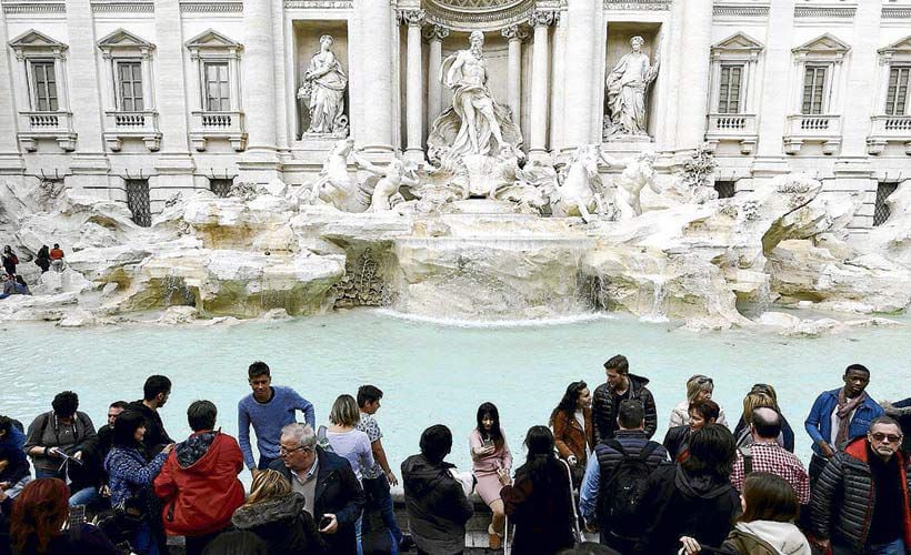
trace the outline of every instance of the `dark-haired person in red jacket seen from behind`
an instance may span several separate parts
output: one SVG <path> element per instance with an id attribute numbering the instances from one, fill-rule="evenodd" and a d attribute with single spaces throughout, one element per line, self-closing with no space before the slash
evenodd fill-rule
<path id="1" fill-rule="evenodd" d="M 188 555 L 200 555 L 231 525 L 231 515 L 243 504 L 238 480 L 243 455 L 237 440 L 214 430 L 217 414 L 210 401 L 190 404 L 187 420 L 193 433 L 177 444 L 154 481 L 156 495 L 164 505 L 164 531 L 187 538 Z"/>

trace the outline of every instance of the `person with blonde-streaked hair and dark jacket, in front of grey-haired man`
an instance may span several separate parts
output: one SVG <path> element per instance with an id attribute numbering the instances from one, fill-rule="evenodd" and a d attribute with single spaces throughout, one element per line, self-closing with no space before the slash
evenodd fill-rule
<path id="1" fill-rule="evenodd" d="M 326 543 L 313 517 L 304 511 L 306 504 L 303 495 L 292 492 L 291 484 L 279 472 L 260 471 L 247 503 L 234 511 L 231 523 L 258 535 L 268 545 L 267 553 L 324 553 Z"/>

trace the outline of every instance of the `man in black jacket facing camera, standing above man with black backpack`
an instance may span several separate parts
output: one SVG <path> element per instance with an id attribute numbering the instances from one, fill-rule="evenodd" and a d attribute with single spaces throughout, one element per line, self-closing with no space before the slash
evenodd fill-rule
<path id="1" fill-rule="evenodd" d="M 658 411 L 652 392 L 645 387 L 649 380 L 630 374 L 630 364 L 622 354 L 609 359 L 604 370 L 608 381 L 594 390 L 592 401 L 595 443 L 613 437 L 618 407 L 624 398 L 638 398 L 645 407 L 645 436 L 651 438 L 658 430 Z"/>

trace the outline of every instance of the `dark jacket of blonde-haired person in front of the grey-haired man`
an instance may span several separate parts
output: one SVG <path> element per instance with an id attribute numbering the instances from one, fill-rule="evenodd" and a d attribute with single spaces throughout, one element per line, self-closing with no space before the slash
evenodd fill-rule
<path id="1" fill-rule="evenodd" d="M 317 524 L 303 509 L 303 495 L 289 493 L 261 503 L 242 505 L 231 522 L 239 529 L 249 531 L 262 538 L 268 553 L 310 555 L 326 553 Z"/>

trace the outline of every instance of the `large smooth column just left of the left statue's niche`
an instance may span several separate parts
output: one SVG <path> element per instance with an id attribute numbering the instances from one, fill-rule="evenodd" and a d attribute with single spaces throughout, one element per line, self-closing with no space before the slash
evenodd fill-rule
<path id="1" fill-rule="evenodd" d="M 276 151 L 276 71 L 271 0 L 243 4 L 243 109 L 247 151 L 238 169 L 241 181 L 269 182 L 278 178 Z"/>

